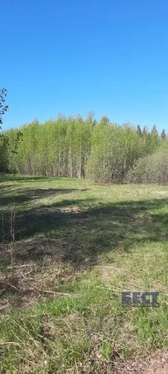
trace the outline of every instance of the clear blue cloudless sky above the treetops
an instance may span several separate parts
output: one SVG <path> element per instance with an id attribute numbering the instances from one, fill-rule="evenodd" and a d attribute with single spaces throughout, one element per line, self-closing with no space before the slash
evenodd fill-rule
<path id="1" fill-rule="evenodd" d="M 0 0 L 3 128 L 93 110 L 168 131 L 167 0 Z"/>

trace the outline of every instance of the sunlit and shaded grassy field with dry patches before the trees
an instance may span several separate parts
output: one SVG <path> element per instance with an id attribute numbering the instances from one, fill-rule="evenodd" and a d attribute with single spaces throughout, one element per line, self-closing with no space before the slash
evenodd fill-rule
<path id="1" fill-rule="evenodd" d="M 1 374 L 148 373 L 168 348 L 168 187 L 1 175 L 0 313 Z"/>

